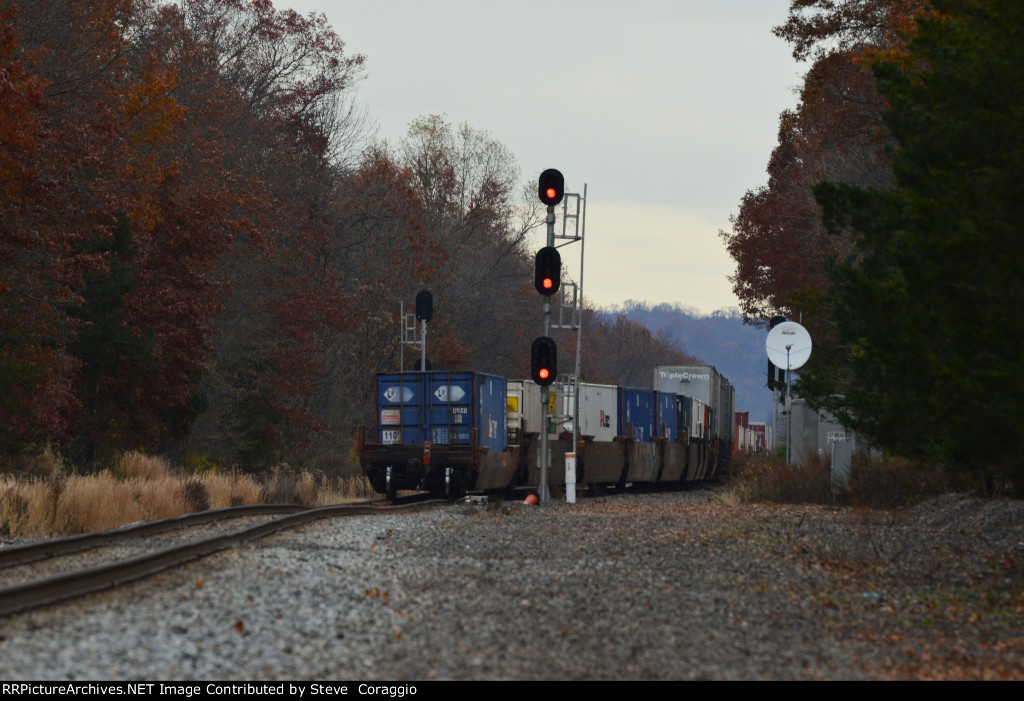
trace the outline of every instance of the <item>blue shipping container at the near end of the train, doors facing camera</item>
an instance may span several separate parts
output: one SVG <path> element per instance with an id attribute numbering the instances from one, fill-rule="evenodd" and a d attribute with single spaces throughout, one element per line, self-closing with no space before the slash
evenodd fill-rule
<path id="1" fill-rule="evenodd" d="M 380 374 L 378 440 L 384 444 L 471 445 L 502 452 L 506 444 L 506 383 L 483 373 Z"/>

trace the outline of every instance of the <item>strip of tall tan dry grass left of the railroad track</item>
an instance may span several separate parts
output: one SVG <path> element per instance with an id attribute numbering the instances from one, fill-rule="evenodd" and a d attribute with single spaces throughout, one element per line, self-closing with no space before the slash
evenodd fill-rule
<path id="1" fill-rule="evenodd" d="M 122 455 L 113 470 L 68 475 L 46 452 L 0 475 L 0 535 L 41 537 L 109 530 L 137 521 L 250 503 L 323 506 L 374 495 L 369 481 L 283 466 L 263 483 L 239 473 L 178 475 L 158 457 Z"/>

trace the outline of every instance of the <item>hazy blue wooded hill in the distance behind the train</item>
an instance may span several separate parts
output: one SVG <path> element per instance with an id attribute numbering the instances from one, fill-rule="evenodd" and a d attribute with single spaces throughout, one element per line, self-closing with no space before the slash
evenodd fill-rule
<path id="1" fill-rule="evenodd" d="M 625 314 L 652 333 L 667 331 L 686 352 L 703 358 L 707 364 L 714 365 L 729 379 L 736 388 L 737 410 L 750 411 L 751 421 L 771 421 L 771 392 L 765 387 L 768 332 L 744 324 L 738 309 L 703 316 L 680 305 L 650 306 L 630 301 L 606 313 Z"/>

